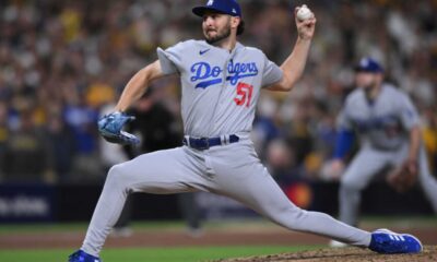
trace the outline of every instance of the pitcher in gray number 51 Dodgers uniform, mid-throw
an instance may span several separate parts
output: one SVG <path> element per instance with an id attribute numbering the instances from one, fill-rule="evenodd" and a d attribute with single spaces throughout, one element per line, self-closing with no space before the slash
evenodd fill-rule
<path id="1" fill-rule="evenodd" d="M 297 9 L 296 9 L 297 10 Z M 72 262 L 101 261 L 98 254 L 131 192 L 206 191 L 233 198 L 276 224 L 383 253 L 420 252 L 411 235 L 368 233 L 331 216 L 294 205 L 260 163 L 249 140 L 261 88 L 290 91 L 300 78 L 316 19 L 297 21 L 298 38 L 291 56 L 277 67 L 259 49 L 237 43 L 241 11 L 235 0 L 209 0 L 193 13 L 203 17 L 205 40 L 188 40 L 166 50 L 158 61 L 140 70 L 127 84 L 115 112 L 99 121 L 104 135 L 119 133 L 122 114 L 151 81 L 178 74 L 182 88 L 185 146 L 141 155 L 114 166 Z M 121 122 L 121 124 L 119 124 Z M 108 131 L 109 130 L 109 131 Z M 135 139 L 129 136 L 133 142 Z"/>

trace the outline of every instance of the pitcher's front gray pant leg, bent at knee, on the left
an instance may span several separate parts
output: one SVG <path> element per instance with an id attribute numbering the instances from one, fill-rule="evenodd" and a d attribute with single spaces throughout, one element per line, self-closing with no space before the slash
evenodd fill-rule
<path id="1" fill-rule="evenodd" d="M 98 257 L 129 193 L 192 191 L 196 167 L 187 167 L 186 157 L 181 148 L 158 151 L 110 168 L 81 249 Z"/>

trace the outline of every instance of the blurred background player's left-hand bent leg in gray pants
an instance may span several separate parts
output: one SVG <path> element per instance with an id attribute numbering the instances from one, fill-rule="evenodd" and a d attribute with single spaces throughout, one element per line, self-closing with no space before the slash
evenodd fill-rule
<path id="1" fill-rule="evenodd" d="M 340 221 L 349 225 L 358 225 L 362 190 L 371 178 L 388 164 L 385 155 L 363 148 L 346 168 L 340 181 L 339 204 Z"/>

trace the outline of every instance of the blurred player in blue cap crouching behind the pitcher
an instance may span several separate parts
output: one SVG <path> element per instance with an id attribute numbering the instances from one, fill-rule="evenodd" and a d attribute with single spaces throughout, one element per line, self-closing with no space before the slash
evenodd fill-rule
<path id="1" fill-rule="evenodd" d="M 356 86 L 338 118 L 339 140 L 332 168 L 344 167 L 343 158 L 351 150 L 354 131 L 361 139 L 361 150 L 341 178 L 340 221 L 356 226 L 361 193 L 385 168 L 406 169 L 392 176 L 411 176 L 418 182 L 437 212 L 437 181 L 430 175 L 426 153 L 421 142 L 420 117 L 406 94 L 383 83 L 383 69 L 371 58 L 363 58 L 356 67 Z M 393 177 L 389 182 L 399 190 Z M 410 183 L 410 181 L 406 181 Z M 402 183 L 402 181 L 401 181 Z M 335 245 L 335 242 L 332 242 Z"/>

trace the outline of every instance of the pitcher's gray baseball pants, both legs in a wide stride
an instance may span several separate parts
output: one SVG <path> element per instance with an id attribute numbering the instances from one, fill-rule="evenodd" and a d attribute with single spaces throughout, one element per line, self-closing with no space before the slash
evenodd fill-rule
<path id="1" fill-rule="evenodd" d="M 91 219 L 82 250 L 98 255 L 131 192 L 156 194 L 206 191 L 241 202 L 291 230 L 368 247 L 370 233 L 331 216 L 294 205 L 260 163 L 252 142 L 197 151 L 187 146 L 157 151 L 114 166 Z"/>

